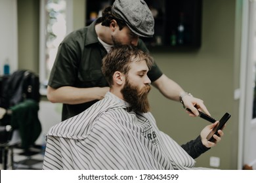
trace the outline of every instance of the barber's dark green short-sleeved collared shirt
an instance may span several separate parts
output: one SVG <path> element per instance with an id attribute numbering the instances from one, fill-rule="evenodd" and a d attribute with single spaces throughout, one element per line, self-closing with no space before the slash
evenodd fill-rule
<path id="1" fill-rule="evenodd" d="M 106 56 L 106 49 L 98 41 L 95 31 L 96 21 L 87 27 L 70 33 L 58 47 L 58 53 L 49 78 L 49 86 L 60 88 L 74 86 L 76 88 L 92 88 L 108 86 L 101 72 L 102 58 Z M 138 48 L 148 52 L 144 42 L 139 39 Z M 162 75 L 155 64 L 148 72 L 152 82 Z M 67 93 L 68 95 L 68 93 Z M 96 101 L 79 105 L 63 104 L 62 120 L 83 112 Z"/>

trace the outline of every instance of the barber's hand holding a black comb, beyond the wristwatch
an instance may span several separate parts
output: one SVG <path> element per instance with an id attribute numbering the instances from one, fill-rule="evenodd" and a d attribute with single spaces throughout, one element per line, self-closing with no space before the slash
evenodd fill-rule
<path id="1" fill-rule="evenodd" d="M 191 95 L 185 95 L 182 97 L 183 105 L 185 108 L 190 108 L 193 113 L 186 111 L 189 116 L 198 116 L 199 112 L 198 110 L 204 112 L 205 114 L 211 116 L 205 105 L 203 104 L 203 101 L 201 99 L 198 99 L 196 97 L 192 97 Z"/>

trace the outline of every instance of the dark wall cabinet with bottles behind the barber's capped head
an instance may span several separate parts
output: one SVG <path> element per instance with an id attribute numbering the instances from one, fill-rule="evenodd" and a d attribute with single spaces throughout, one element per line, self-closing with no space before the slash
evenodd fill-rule
<path id="1" fill-rule="evenodd" d="M 145 0 L 155 19 L 154 36 L 142 38 L 149 50 L 193 50 L 201 46 L 202 0 Z M 87 25 L 114 1 L 87 1 Z"/>

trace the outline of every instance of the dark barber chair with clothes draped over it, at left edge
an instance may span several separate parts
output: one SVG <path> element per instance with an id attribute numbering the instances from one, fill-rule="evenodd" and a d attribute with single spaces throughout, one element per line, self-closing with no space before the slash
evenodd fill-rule
<path id="1" fill-rule="evenodd" d="M 41 146 L 34 144 L 41 133 L 41 123 L 37 116 L 39 100 L 30 98 L 34 94 L 34 90 L 36 90 L 36 94 L 39 93 L 39 87 L 32 88 L 35 81 L 39 82 L 39 78 L 25 80 L 24 77 L 28 76 L 28 73 L 31 75 L 29 71 L 14 73 L 15 76 L 20 75 L 20 78 L 15 78 L 14 82 L 11 82 L 14 74 L 0 76 L 0 163 L 2 163 L 3 169 L 16 169 L 20 164 L 26 165 L 24 169 L 32 169 L 33 163 L 42 161 L 42 159 L 38 161 L 32 159 L 33 155 L 41 154 Z M 11 77 L 12 80 L 10 80 Z M 29 82 L 33 82 L 33 85 Z M 38 86 L 38 83 L 36 84 Z M 25 91 L 21 95 L 17 94 L 16 91 L 23 90 L 26 87 L 28 87 L 30 93 L 25 93 Z M 13 93 L 12 96 L 15 96 L 11 105 L 8 101 L 11 97 L 6 97 L 7 93 Z M 16 101 L 16 103 L 13 101 Z M 3 110 L 5 110 L 4 114 Z M 20 153 L 16 154 L 17 151 L 20 151 Z M 20 159 L 24 156 L 25 159 L 14 161 L 16 156 L 19 156 Z"/>

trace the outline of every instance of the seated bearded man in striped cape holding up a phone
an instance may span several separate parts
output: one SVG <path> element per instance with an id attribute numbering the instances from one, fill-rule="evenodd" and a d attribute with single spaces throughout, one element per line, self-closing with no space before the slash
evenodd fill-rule
<path id="1" fill-rule="evenodd" d="M 102 63 L 110 92 L 50 129 L 43 169 L 192 169 L 193 158 L 215 146 L 206 137 L 217 122 L 183 148 L 160 131 L 147 98 L 152 62 L 133 46 L 112 48 Z"/>

